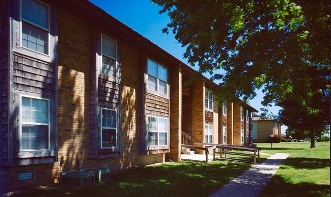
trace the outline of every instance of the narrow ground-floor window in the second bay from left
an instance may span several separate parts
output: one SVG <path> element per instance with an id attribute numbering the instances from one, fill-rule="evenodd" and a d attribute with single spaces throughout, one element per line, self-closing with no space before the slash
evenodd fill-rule
<path id="1" fill-rule="evenodd" d="M 101 149 L 117 147 L 116 110 L 101 108 Z"/>

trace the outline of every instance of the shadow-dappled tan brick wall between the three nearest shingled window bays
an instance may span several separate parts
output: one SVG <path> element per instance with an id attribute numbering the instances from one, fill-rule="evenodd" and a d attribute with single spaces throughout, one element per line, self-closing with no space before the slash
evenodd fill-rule
<path id="1" fill-rule="evenodd" d="M 58 149 L 66 158 L 63 170 L 102 167 L 109 163 L 111 170 L 164 162 L 165 154 L 139 155 L 137 151 L 137 88 L 138 52 L 121 43 L 121 152 L 119 157 L 89 159 L 89 24 L 79 18 L 59 13 L 58 61 Z M 92 27 L 91 27 L 92 28 Z M 119 41 L 120 42 L 120 41 Z M 93 75 L 92 75 L 93 76 Z M 178 104 L 180 105 L 180 104 Z M 33 173 L 33 179 L 19 181 L 20 173 Z M 60 162 L 0 167 L 0 193 L 51 184 L 52 176 L 60 173 Z M 55 181 L 57 182 L 57 181 Z"/>

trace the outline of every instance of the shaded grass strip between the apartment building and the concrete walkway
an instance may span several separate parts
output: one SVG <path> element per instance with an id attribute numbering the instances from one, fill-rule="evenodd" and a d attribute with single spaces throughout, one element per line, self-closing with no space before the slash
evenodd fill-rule
<path id="1" fill-rule="evenodd" d="M 112 173 L 104 184 L 79 189 L 44 186 L 15 196 L 208 196 L 252 165 L 167 162 Z"/>

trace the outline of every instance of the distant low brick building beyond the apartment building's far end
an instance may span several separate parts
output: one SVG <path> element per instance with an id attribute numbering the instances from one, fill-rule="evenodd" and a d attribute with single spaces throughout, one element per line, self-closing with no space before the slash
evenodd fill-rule
<path id="1" fill-rule="evenodd" d="M 262 119 L 259 115 L 253 115 L 253 143 L 268 142 L 268 137 L 271 134 L 281 135 L 281 126 L 281 122 L 277 119 Z"/>

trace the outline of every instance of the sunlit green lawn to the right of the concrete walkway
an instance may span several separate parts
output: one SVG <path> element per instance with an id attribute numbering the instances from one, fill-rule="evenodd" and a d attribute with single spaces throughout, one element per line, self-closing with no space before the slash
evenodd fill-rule
<path id="1" fill-rule="evenodd" d="M 260 196 L 330 196 L 330 142 L 258 143 L 262 153 L 290 153 Z"/>

